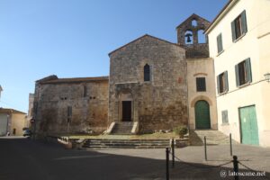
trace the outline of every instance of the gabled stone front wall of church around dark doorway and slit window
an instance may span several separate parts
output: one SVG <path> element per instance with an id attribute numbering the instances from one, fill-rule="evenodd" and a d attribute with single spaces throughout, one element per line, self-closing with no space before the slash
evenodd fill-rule
<path id="1" fill-rule="evenodd" d="M 145 35 L 110 53 L 109 122 L 121 121 L 122 97 L 132 101 L 132 121 L 139 131 L 173 129 L 187 124 L 184 49 Z M 144 82 L 144 66 L 150 66 Z"/>

